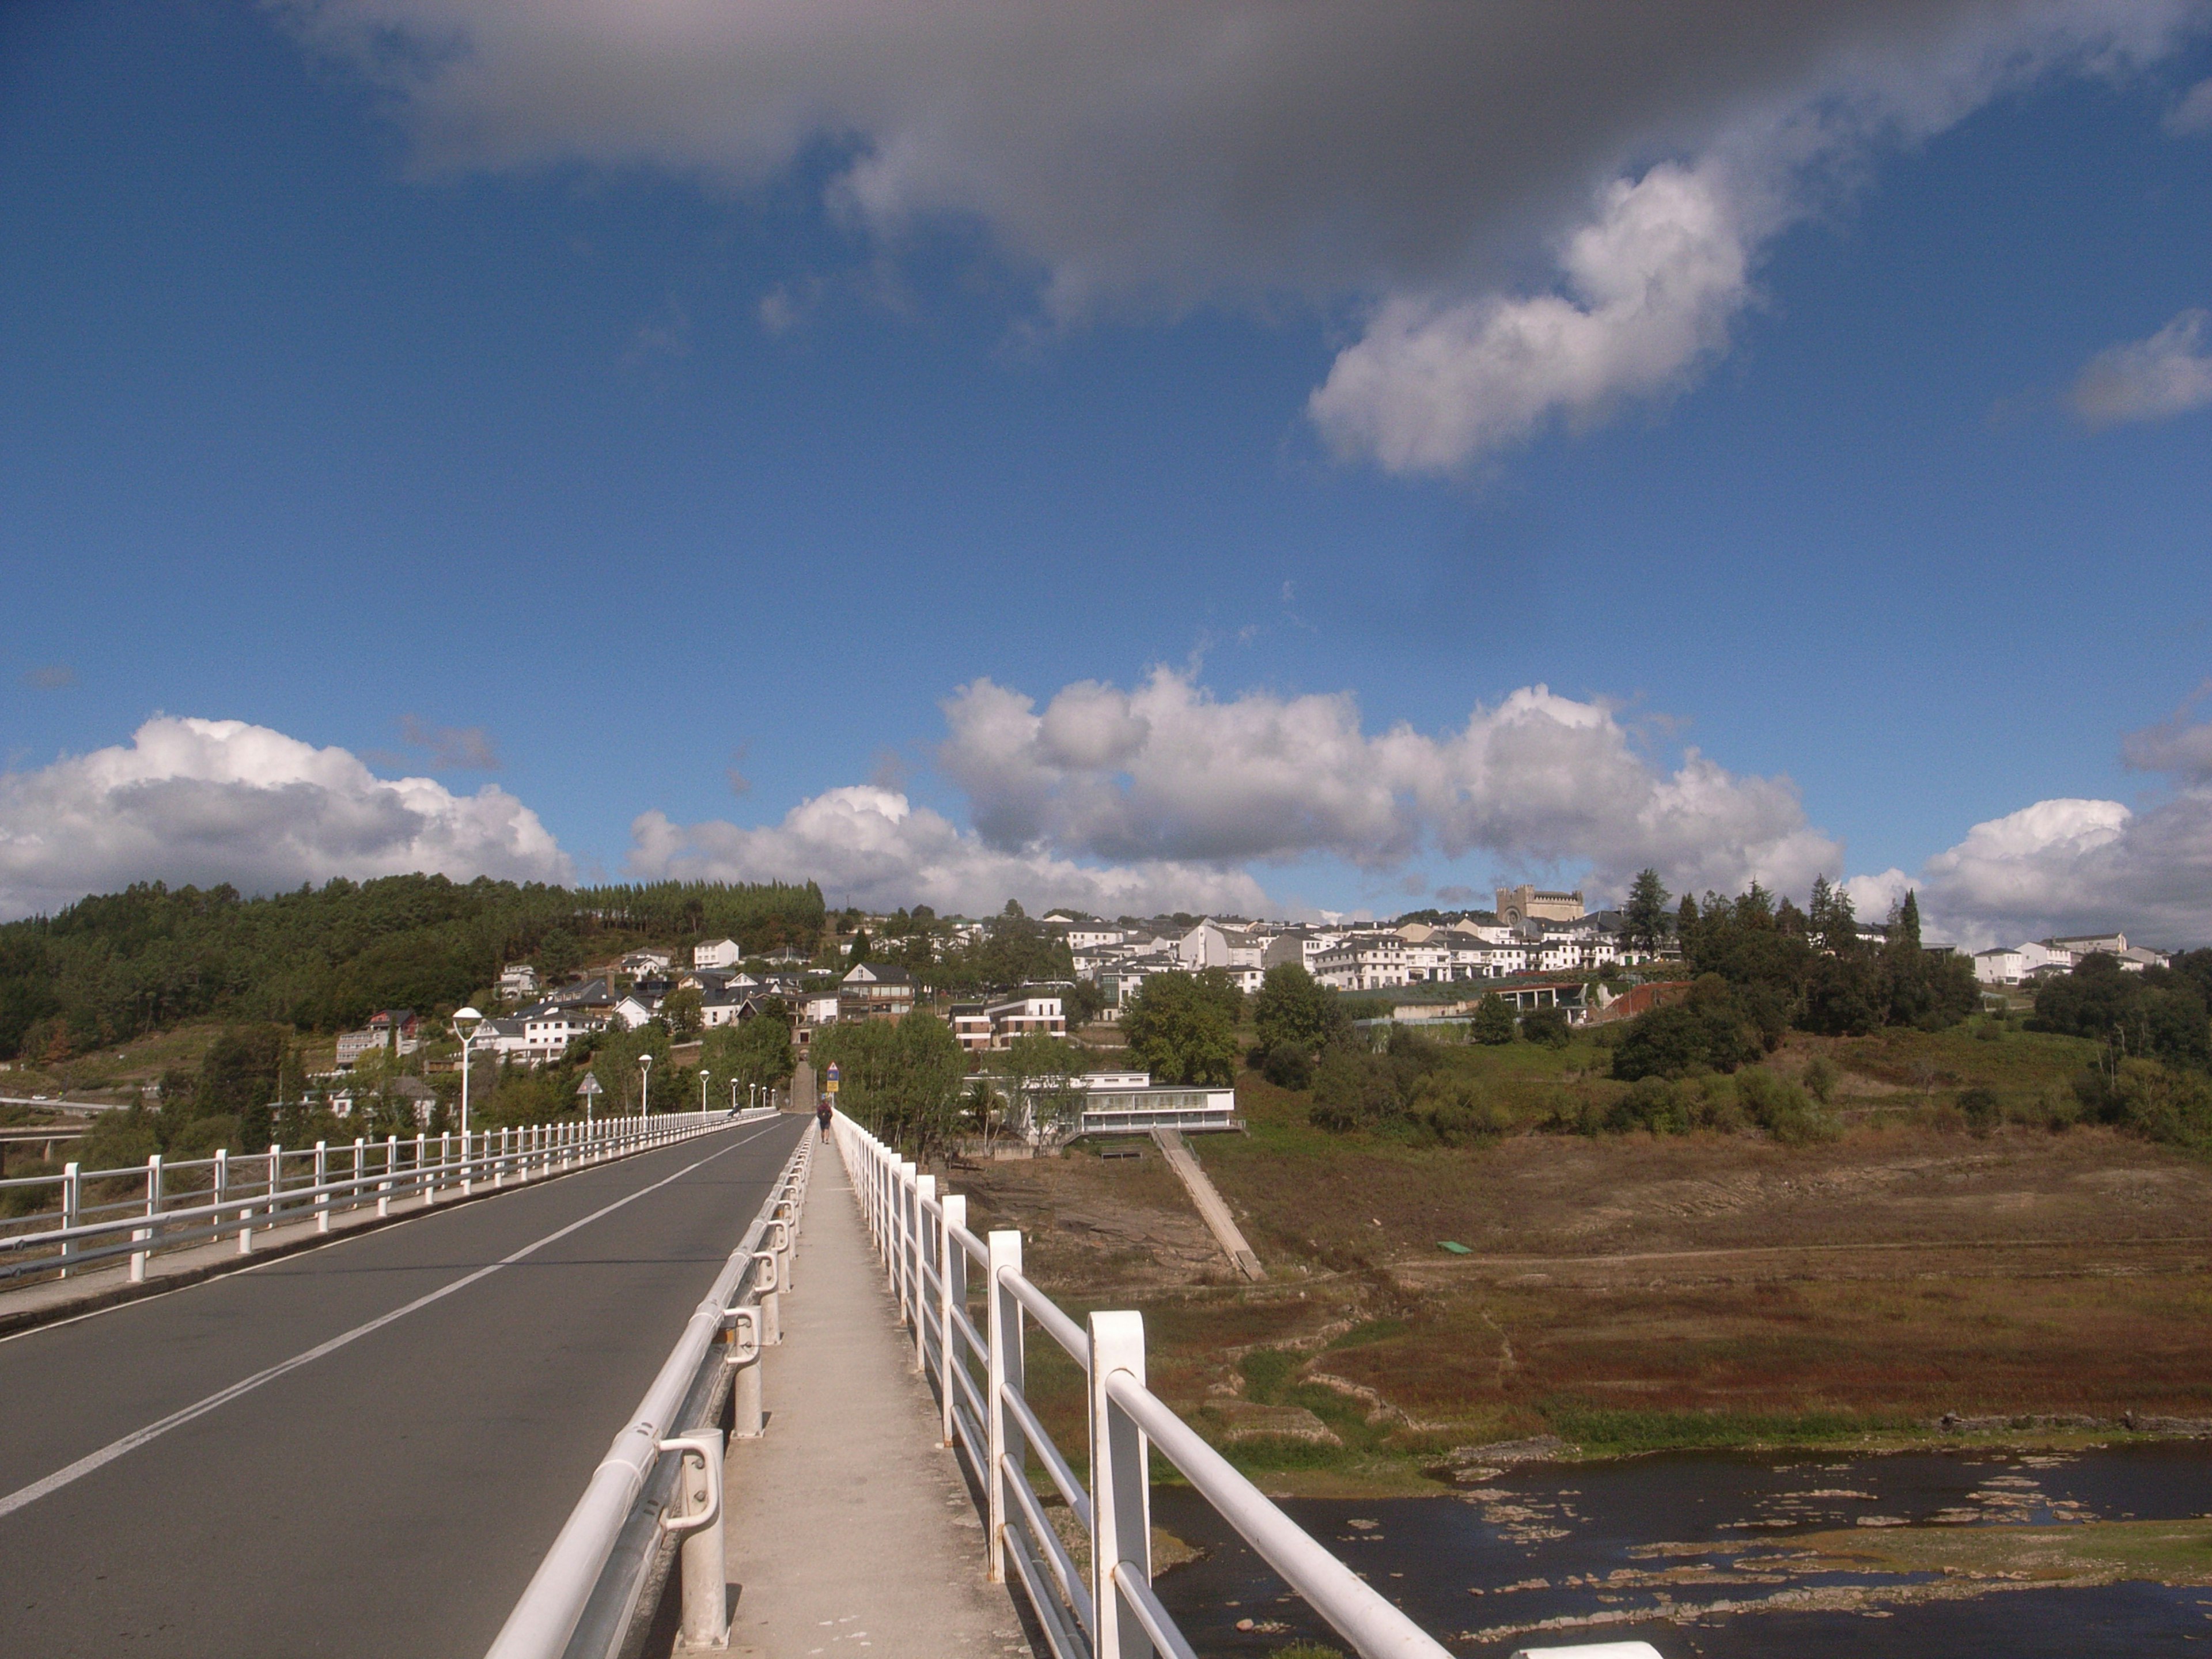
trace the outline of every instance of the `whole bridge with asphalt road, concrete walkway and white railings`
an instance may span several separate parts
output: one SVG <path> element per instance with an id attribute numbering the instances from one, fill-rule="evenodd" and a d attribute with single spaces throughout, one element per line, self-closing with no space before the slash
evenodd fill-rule
<path id="1" fill-rule="evenodd" d="M 71 1166 L 0 1206 L 0 1652 L 1197 1659 L 1161 1458 L 1349 1652 L 1444 1655 L 1146 1389 L 1139 1314 L 1066 1314 L 843 1115 Z M 1037 1343 L 1084 1444 L 1026 1398 Z"/>

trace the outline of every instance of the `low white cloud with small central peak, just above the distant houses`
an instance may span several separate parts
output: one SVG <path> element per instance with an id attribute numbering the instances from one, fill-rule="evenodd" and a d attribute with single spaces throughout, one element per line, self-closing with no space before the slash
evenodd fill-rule
<path id="1" fill-rule="evenodd" d="M 801 801 L 783 823 L 754 830 L 677 825 L 646 812 L 630 825 L 628 863 L 648 880 L 816 880 L 832 905 L 933 905 L 971 916 L 995 914 L 1009 898 L 1031 911 L 1075 905 L 1102 916 L 1267 909 L 1267 896 L 1241 869 L 1177 860 L 1091 867 L 1046 849 L 1000 852 L 876 785 L 827 790 Z"/>

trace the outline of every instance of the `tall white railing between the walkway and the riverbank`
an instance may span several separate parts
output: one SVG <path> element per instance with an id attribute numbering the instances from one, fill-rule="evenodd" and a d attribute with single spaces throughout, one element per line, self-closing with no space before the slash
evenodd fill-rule
<path id="1" fill-rule="evenodd" d="M 1152 1593 L 1150 1451 L 1172 1462 L 1243 1540 L 1363 1659 L 1447 1659 L 1447 1650 L 1259 1486 L 1201 1440 L 1144 1385 L 1144 1314 L 1097 1312 L 1088 1327 L 1022 1276 L 1022 1234 L 967 1228 L 967 1199 L 938 1192 L 845 1113 L 832 1119 L 854 1194 L 883 1256 L 916 1365 L 942 1411 L 945 1444 L 960 1447 L 987 1493 L 989 1575 L 1020 1579 L 1055 1659 L 1192 1659 Z M 982 1329 L 969 1312 L 969 1265 L 982 1270 Z M 1088 1378 L 1091 1480 L 1084 1484 L 1031 1409 L 1024 1318 Z M 978 1378 L 980 1371 L 980 1378 Z M 1044 1515 L 1031 1458 L 1091 1540 L 1091 1571 Z"/>

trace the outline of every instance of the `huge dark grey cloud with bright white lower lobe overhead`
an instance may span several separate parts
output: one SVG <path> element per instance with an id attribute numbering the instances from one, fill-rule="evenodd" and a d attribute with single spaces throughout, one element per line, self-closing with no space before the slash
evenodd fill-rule
<path id="1" fill-rule="evenodd" d="M 883 243 L 982 226 L 1048 310 L 1354 303 L 1312 414 L 1447 469 L 1666 394 L 1776 230 L 2004 86 L 2163 53 L 2192 0 L 276 0 L 427 166 L 759 186 L 830 155 Z M 1528 283 L 1559 252 L 1557 292 Z"/>

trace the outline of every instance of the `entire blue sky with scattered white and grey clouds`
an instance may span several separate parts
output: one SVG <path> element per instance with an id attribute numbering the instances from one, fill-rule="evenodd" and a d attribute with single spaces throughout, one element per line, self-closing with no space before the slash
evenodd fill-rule
<path id="1" fill-rule="evenodd" d="M 0 9 L 0 916 L 2212 942 L 2212 7 Z"/>

